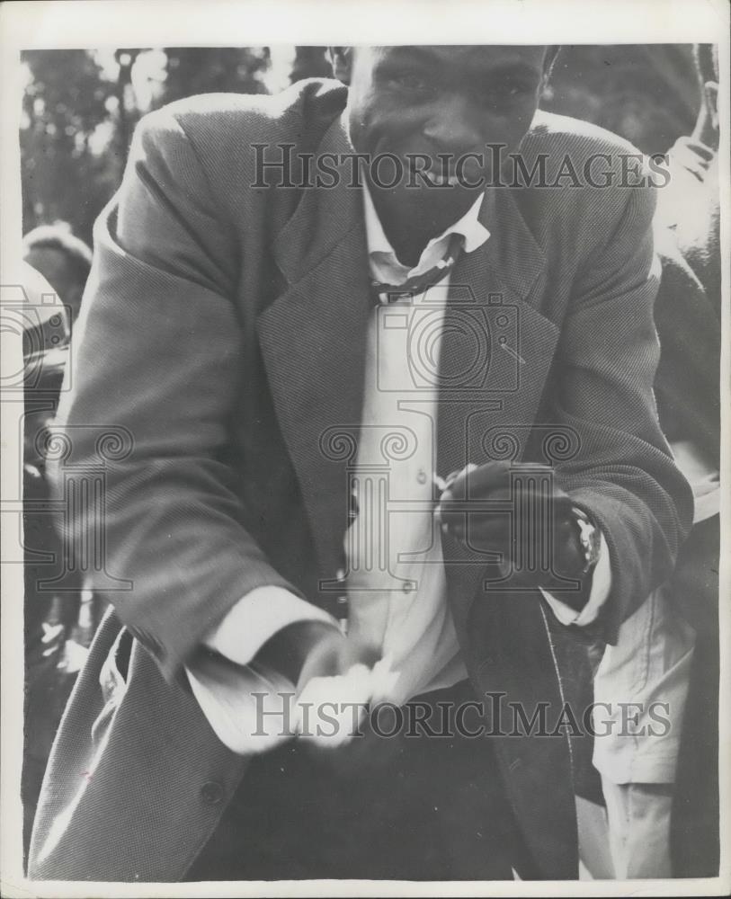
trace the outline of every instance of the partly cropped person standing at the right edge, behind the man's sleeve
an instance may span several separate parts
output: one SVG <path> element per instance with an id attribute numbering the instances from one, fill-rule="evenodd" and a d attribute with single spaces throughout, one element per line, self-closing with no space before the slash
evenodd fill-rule
<path id="1" fill-rule="evenodd" d="M 700 111 L 670 150 L 658 191 L 655 245 L 663 266 L 655 300 L 661 358 L 658 413 L 693 489 L 693 529 L 673 577 L 608 646 L 595 699 L 637 703 L 637 733 L 598 737 L 617 877 L 718 876 L 718 565 L 721 280 L 718 49 L 694 48 Z M 664 703 L 669 729 L 648 709 Z"/>

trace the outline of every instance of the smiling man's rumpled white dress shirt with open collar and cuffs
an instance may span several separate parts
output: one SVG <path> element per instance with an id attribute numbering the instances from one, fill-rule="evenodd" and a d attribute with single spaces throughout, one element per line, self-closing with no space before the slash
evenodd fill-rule
<path id="1" fill-rule="evenodd" d="M 370 272 L 375 280 L 399 284 L 429 271 L 447 253 L 450 238 L 462 238 L 462 252 L 483 245 L 490 233 L 479 221 L 479 194 L 468 212 L 423 250 L 409 269 L 388 242 L 368 189 L 363 191 Z M 432 473 L 436 452 L 437 390 L 428 370 L 438 364 L 441 318 L 449 273 L 414 298 L 374 307 L 366 343 L 361 437 L 352 472 L 358 514 L 344 535 L 347 562 L 349 637 L 379 648 L 395 677 L 382 699 L 402 704 L 427 690 L 449 687 L 467 676 L 446 600 L 441 530 L 434 521 Z M 431 335 L 424 358 L 415 359 L 407 335 L 423 316 Z M 414 369 L 414 363 L 421 366 Z M 436 374 L 433 371 L 433 374 Z M 414 378 L 422 378 L 415 399 Z M 411 389 L 408 389 L 411 387 Z M 602 535 L 600 562 L 589 602 L 581 613 L 544 592 L 565 624 L 591 623 L 609 594 L 609 554 Z M 236 752 L 260 752 L 272 739 L 255 737 L 254 694 L 293 686 L 265 671 L 255 656 L 287 625 L 319 620 L 338 627 L 325 611 L 280 587 L 260 587 L 234 606 L 206 644 L 236 665 L 208 660 L 188 670 L 192 690 L 219 738 Z M 272 700 L 273 701 L 273 700 Z M 261 708 L 261 706 L 260 706 Z M 272 705 L 272 708 L 274 706 Z"/>

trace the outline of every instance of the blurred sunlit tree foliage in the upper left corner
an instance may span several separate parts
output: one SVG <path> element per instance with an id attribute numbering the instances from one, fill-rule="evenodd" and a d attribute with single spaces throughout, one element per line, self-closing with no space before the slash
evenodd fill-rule
<path id="1" fill-rule="evenodd" d="M 148 109 L 195 93 L 265 93 L 266 48 L 165 48 L 140 105 L 134 69 L 147 49 L 117 49 L 110 75 L 87 50 L 32 50 L 21 129 L 23 233 L 62 219 L 91 244 L 94 219 L 119 185 L 129 140 Z"/>

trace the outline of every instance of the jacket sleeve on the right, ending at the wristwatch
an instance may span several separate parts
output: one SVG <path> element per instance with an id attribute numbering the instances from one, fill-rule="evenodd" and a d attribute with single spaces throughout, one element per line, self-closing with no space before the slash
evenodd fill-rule
<path id="1" fill-rule="evenodd" d="M 644 188 L 626 194 L 609 240 L 576 281 L 551 403 L 579 437 L 575 457 L 558 467 L 560 484 L 593 515 L 609 547 L 611 592 L 600 616 L 609 643 L 671 574 L 692 517 L 691 490 L 660 430 L 653 393 L 655 198 Z"/>

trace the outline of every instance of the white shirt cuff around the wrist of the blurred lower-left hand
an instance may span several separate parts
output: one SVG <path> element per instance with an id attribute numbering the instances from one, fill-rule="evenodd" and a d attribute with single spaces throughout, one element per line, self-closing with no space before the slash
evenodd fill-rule
<path id="1" fill-rule="evenodd" d="M 337 628 L 332 615 L 289 590 L 273 584 L 256 587 L 236 602 L 203 643 L 231 662 L 247 665 L 277 631 L 299 621 L 322 621 Z"/>

